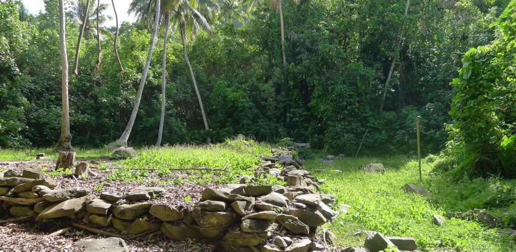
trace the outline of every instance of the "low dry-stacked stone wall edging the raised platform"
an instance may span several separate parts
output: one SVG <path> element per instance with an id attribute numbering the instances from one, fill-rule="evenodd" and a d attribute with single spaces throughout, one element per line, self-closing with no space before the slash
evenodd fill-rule
<path id="1" fill-rule="evenodd" d="M 152 203 L 164 196 L 160 187 L 98 198 L 84 187 L 55 190 L 57 182 L 36 170 L 8 170 L 0 178 L 0 217 L 67 218 L 93 228 L 114 227 L 129 238 L 161 230 L 174 241 L 200 239 L 227 251 L 328 249 L 316 241 L 321 239 L 318 227 L 337 214 L 329 207 L 333 197 L 316 193 L 323 181 L 302 169 L 291 148 L 275 151 L 254 167 L 255 177 L 276 176 L 285 186 L 256 185 L 256 178 L 242 177 L 241 184 L 206 188 L 191 208 Z"/>

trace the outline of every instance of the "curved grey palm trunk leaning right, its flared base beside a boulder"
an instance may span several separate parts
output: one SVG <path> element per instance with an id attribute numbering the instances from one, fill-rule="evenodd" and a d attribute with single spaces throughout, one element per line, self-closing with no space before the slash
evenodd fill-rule
<path id="1" fill-rule="evenodd" d="M 125 127 L 124 132 L 117 140 L 119 144 L 126 145 L 127 139 L 129 139 L 129 135 L 131 134 L 131 130 L 133 130 L 134 121 L 136 120 L 136 115 L 138 114 L 138 108 L 140 106 L 141 95 L 143 93 L 143 87 L 145 86 L 145 82 L 147 80 L 147 73 L 149 72 L 149 67 L 151 65 L 152 53 L 154 52 L 154 42 L 156 41 L 156 35 L 158 33 L 158 22 L 159 22 L 159 0 L 156 0 L 156 12 L 154 14 L 154 28 L 152 29 L 151 36 L 151 44 L 149 48 L 149 54 L 147 55 L 147 60 L 145 61 L 145 66 L 143 67 L 143 72 L 140 80 L 140 86 L 138 87 L 138 93 L 136 95 L 136 100 L 133 106 L 133 112 L 131 113 L 131 118 L 127 122 L 127 126 Z"/>

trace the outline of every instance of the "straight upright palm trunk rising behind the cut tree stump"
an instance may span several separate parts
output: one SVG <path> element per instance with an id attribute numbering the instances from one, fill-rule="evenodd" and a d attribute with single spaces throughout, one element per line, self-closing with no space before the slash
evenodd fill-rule
<path id="1" fill-rule="evenodd" d="M 70 106 L 68 104 L 68 55 L 66 52 L 65 0 L 59 0 L 59 40 L 61 53 L 61 96 L 62 120 L 61 137 L 57 150 L 72 150 L 72 134 L 70 133 Z"/>

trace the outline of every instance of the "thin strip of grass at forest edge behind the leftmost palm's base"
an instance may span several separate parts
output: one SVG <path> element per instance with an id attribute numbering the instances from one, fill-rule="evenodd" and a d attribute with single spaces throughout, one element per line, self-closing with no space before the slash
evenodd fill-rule
<path id="1" fill-rule="evenodd" d="M 98 158 L 100 155 L 113 153 L 107 149 L 82 149 L 75 148 L 76 158 Z M 0 161 L 30 161 L 36 160 L 36 154 L 45 153 L 44 160 L 57 160 L 58 152 L 52 148 L 44 149 L 0 149 Z"/>

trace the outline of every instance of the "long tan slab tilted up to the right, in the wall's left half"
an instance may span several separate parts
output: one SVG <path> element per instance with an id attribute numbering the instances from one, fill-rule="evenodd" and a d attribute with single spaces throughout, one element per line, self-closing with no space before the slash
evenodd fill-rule
<path id="1" fill-rule="evenodd" d="M 88 195 L 76 199 L 69 199 L 47 207 L 38 215 L 36 220 L 65 217 L 76 214 L 80 211 L 84 211 L 86 209 L 86 202 L 93 199 L 94 197 L 95 196 L 93 195 Z"/>

